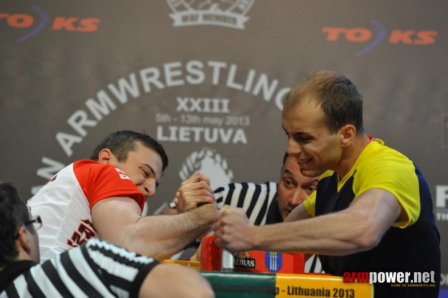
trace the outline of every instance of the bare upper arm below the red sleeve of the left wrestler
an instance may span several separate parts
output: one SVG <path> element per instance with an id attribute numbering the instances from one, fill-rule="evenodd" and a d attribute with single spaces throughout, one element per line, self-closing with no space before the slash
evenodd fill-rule
<path id="1" fill-rule="evenodd" d="M 137 202 L 127 197 L 101 200 L 93 205 L 91 212 L 98 236 L 116 243 L 121 243 L 127 229 L 142 217 Z"/>

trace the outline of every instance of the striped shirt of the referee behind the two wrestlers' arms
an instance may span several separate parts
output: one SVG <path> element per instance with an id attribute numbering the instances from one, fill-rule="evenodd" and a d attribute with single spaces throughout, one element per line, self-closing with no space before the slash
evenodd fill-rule
<path id="1" fill-rule="evenodd" d="M 276 182 L 230 183 L 217 188 L 215 198 L 218 209 L 224 205 L 242 208 L 252 224 L 277 224 L 283 222 L 278 204 L 278 188 Z M 306 261 L 305 272 L 323 272 L 316 255 Z"/>

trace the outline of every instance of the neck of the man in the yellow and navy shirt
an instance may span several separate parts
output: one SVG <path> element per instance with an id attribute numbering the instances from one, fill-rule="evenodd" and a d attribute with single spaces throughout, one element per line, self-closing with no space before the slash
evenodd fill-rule
<path id="1" fill-rule="evenodd" d="M 345 175 L 350 172 L 359 155 L 364 150 L 364 148 L 369 145 L 369 143 L 369 137 L 366 134 L 363 134 L 360 137 L 356 137 L 348 147 L 344 148 L 341 161 L 334 169 L 334 171 L 338 174 L 339 179 L 344 178 Z"/>

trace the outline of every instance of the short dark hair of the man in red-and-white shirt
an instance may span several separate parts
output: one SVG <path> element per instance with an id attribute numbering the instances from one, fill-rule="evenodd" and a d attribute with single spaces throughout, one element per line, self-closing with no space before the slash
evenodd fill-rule
<path id="1" fill-rule="evenodd" d="M 133 131 L 119 131 L 108 135 L 96 146 L 92 155 L 90 155 L 90 159 L 98 161 L 99 152 L 102 149 L 109 149 L 117 157 L 119 162 L 124 162 L 128 159 L 129 152 L 136 149 L 137 142 L 140 142 L 143 146 L 154 150 L 160 155 L 162 159 L 162 171 L 164 171 L 168 166 L 168 156 L 166 156 L 162 145 L 147 134 Z"/>

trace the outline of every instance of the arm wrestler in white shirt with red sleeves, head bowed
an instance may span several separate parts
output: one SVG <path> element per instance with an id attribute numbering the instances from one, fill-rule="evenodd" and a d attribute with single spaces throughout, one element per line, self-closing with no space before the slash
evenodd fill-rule
<path id="1" fill-rule="evenodd" d="M 182 183 L 178 215 L 142 218 L 168 165 L 162 146 L 148 135 L 112 133 L 90 158 L 62 169 L 27 202 L 46 223 L 39 230 L 41 261 L 97 236 L 162 260 L 210 226 L 216 203 L 202 174 Z M 199 202 L 207 204 L 190 208 Z"/>

